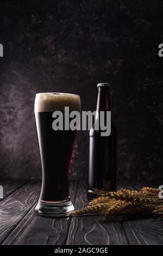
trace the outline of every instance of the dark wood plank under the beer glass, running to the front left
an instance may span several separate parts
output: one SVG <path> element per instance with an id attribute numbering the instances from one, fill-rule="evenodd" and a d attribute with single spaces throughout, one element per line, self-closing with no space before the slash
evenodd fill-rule
<path id="1" fill-rule="evenodd" d="M 76 198 L 78 183 L 78 181 L 70 181 L 72 202 Z M 3 245 L 64 245 L 66 243 L 71 217 L 41 217 L 35 214 L 34 207 L 7 237 Z"/>

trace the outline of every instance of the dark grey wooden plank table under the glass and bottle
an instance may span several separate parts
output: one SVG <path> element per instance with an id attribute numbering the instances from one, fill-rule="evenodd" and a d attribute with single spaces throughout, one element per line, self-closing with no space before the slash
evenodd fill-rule
<path id="1" fill-rule="evenodd" d="M 163 245 L 163 221 L 144 218 L 106 223 L 102 217 L 46 218 L 34 212 L 40 193 L 38 180 L 0 180 L 2 245 Z M 160 184 L 158 184 L 160 185 Z M 118 187 L 140 184 L 119 182 Z M 70 182 L 75 209 L 86 205 L 86 181 Z"/>

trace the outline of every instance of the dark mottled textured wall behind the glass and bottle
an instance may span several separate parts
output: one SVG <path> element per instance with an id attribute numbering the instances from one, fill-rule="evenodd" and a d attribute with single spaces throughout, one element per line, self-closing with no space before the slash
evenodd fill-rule
<path id="1" fill-rule="evenodd" d="M 1 1 L 1 178 L 41 178 L 34 98 L 81 96 L 96 107 L 98 82 L 111 82 L 118 175 L 162 175 L 162 1 Z M 87 172 L 87 132 L 78 132 L 71 176 Z"/>

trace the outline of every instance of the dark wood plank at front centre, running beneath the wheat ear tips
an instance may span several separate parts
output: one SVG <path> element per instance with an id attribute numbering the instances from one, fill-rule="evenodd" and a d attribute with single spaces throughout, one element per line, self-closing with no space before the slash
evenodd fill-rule
<path id="1" fill-rule="evenodd" d="M 86 204 L 86 181 L 80 181 L 75 208 Z M 100 216 L 83 216 L 72 218 L 67 245 L 128 245 L 128 239 L 121 223 L 106 223 Z"/>

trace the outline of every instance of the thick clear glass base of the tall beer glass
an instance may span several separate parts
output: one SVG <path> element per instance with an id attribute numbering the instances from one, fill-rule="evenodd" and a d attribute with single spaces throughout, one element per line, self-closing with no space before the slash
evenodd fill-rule
<path id="1" fill-rule="evenodd" d="M 74 207 L 70 199 L 59 202 L 46 202 L 39 200 L 35 207 L 35 212 L 37 214 L 46 217 L 68 216 L 73 210 Z"/>

